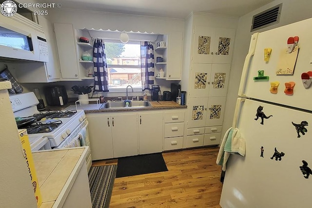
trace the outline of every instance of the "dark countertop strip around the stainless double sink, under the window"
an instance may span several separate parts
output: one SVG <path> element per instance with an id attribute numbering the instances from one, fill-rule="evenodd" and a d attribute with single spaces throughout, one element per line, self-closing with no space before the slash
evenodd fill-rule
<path id="1" fill-rule="evenodd" d="M 99 104 L 77 104 L 78 110 L 84 110 L 85 113 L 101 113 L 101 112 L 122 112 L 122 111 L 150 111 L 150 110 L 166 110 L 166 109 L 183 109 L 186 105 L 179 105 L 174 101 L 149 101 L 151 107 L 144 108 L 118 108 L 118 109 L 100 109 L 102 103 Z M 76 105 L 69 105 L 64 110 L 76 110 Z"/>

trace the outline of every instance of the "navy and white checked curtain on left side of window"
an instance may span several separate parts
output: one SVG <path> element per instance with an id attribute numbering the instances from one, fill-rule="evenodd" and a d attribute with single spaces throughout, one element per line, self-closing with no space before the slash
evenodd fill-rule
<path id="1" fill-rule="evenodd" d="M 93 44 L 94 91 L 109 92 L 104 41 L 97 38 Z"/>

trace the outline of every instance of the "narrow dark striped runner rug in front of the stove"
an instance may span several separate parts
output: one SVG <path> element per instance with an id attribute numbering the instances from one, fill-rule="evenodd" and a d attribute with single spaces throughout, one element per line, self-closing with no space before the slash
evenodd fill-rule
<path id="1" fill-rule="evenodd" d="M 92 166 L 89 185 L 93 208 L 108 208 L 112 196 L 117 165 Z"/>

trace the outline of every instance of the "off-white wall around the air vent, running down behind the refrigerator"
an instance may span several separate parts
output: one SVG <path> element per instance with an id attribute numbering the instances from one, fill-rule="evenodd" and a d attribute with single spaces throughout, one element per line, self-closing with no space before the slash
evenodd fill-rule
<path id="1" fill-rule="evenodd" d="M 252 19 L 255 14 L 258 14 L 280 3 L 283 3 L 283 5 L 278 24 L 274 24 L 254 32 L 250 32 Z M 230 83 L 227 94 L 222 135 L 224 135 L 226 130 L 232 126 L 240 76 L 242 73 L 245 57 L 248 53 L 250 38 L 252 34 L 255 32 L 263 32 L 276 27 L 291 24 L 293 22 L 303 19 L 312 18 L 311 8 L 311 0 L 275 0 L 245 16 L 242 16 L 239 19 L 235 35 L 234 57 L 231 66 Z"/>

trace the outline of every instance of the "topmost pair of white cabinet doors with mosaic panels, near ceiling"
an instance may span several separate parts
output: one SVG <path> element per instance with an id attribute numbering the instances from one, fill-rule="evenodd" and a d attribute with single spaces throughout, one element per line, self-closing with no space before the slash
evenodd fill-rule
<path id="1" fill-rule="evenodd" d="M 231 63 L 235 29 L 195 26 L 193 63 Z"/>

